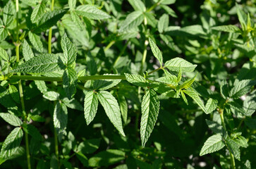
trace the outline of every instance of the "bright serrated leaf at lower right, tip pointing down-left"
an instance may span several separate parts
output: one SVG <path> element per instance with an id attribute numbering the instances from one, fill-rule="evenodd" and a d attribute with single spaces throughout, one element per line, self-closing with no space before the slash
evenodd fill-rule
<path id="1" fill-rule="evenodd" d="M 215 151 L 219 151 L 225 146 L 224 142 L 222 141 L 221 134 L 214 134 L 211 137 L 209 137 L 204 146 L 202 146 L 202 149 L 200 151 L 200 156 L 204 156 L 205 154 L 210 154 Z"/>

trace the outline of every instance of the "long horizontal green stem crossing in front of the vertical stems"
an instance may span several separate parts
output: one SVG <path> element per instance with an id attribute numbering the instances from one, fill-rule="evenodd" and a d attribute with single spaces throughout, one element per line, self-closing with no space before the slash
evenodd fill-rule
<path id="1" fill-rule="evenodd" d="M 62 82 L 62 77 L 44 77 L 44 76 L 31 76 L 31 75 L 13 75 L 9 77 L 10 80 L 42 80 L 47 82 Z M 80 76 L 78 80 L 126 80 L 124 75 L 91 75 Z"/>

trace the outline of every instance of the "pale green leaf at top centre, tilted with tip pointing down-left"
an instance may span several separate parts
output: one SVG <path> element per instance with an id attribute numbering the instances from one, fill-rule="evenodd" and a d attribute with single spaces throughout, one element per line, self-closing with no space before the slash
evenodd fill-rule
<path id="1" fill-rule="evenodd" d="M 131 30 L 133 27 L 138 27 L 144 20 L 142 11 L 134 11 L 127 15 L 126 20 L 124 20 L 119 28 L 120 32 Z"/>

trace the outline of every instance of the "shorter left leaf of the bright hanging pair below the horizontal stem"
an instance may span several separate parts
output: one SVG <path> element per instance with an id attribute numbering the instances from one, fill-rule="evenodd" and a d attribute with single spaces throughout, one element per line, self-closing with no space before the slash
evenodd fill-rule
<path id="1" fill-rule="evenodd" d="M 95 115 L 97 113 L 98 108 L 98 99 L 95 92 L 90 91 L 87 92 L 85 95 L 85 106 L 84 106 L 84 112 L 85 112 L 85 120 L 87 125 L 89 125 L 92 120 L 95 118 Z"/>

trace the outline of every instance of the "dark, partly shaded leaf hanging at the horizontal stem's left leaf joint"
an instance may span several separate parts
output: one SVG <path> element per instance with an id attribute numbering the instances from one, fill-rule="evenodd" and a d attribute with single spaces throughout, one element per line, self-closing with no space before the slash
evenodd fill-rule
<path id="1" fill-rule="evenodd" d="M 63 73 L 63 88 L 68 96 L 68 99 L 71 99 L 76 92 L 76 84 L 78 82 L 78 76 L 75 69 L 67 68 Z"/>

